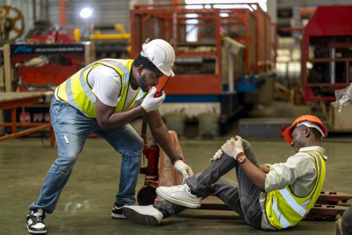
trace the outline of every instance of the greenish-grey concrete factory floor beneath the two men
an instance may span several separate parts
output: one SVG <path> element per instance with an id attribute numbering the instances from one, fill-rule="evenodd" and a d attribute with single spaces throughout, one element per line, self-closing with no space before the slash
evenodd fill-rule
<path id="1" fill-rule="evenodd" d="M 208 164 L 224 139 L 184 140 L 186 162 L 195 172 Z M 260 163 L 283 162 L 294 152 L 283 140 L 251 141 Z M 324 189 L 352 193 L 351 141 L 327 139 L 329 161 Z M 23 138 L 0 143 L 0 234 L 27 234 L 27 207 L 38 196 L 46 171 L 56 158 L 48 140 Z M 90 138 L 52 215 L 46 217 L 49 234 L 267 234 L 245 224 L 235 212 L 185 210 L 164 219 L 159 227 L 111 219 L 118 187 L 120 156 L 101 138 Z M 234 172 L 227 175 L 236 181 Z M 141 188 L 144 176 L 139 177 Z M 351 204 L 351 202 L 350 202 Z M 334 222 L 303 221 L 284 234 L 334 234 Z"/>

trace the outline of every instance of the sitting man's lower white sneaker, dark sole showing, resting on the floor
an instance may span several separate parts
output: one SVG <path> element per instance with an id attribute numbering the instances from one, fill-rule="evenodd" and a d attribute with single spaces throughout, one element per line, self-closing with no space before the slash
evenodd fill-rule
<path id="1" fill-rule="evenodd" d="M 127 219 L 137 224 L 156 226 L 161 223 L 163 213 L 158 211 L 153 205 L 125 205 L 122 207 L 123 214 Z"/>

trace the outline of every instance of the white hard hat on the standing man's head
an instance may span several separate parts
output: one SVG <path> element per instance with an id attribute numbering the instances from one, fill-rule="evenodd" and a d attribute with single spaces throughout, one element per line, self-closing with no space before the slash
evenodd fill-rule
<path id="1" fill-rule="evenodd" d="M 147 57 L 156 68 L 166 76 L 175 76 L 172 66 L 175 63 L 175 51 L 172 46 L 161 39 L 151 40 L 142 45 L 141 55 Z"/>

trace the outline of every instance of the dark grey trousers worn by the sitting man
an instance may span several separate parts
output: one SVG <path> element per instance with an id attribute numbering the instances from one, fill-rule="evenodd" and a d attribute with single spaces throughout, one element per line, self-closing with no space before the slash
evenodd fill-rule
<path id="1" fill-rule="evenodd" d="M 259 166 L 251 144 L 243 140 L 243 146 L 246 160 Z M 222 177 L 233 168 L 236 169 L 238 183 Z M 229 155 L 224 153 L 220 159 L 209 164 L 201 173 L 186 179 L 185 183 L 191 191 L 201 195 L 202 198 L 206 198 L 210 194 L 217 196 L 227 207 L 241 215 L 247 224 L 260 229 L 262 211 L 259 195 L 261 191 L 244 173 L 241 165 Z M 154 207 L 163 213 L 164 218 L 185 209 L 181 205 L 168 201 L 157 203 Z"/>

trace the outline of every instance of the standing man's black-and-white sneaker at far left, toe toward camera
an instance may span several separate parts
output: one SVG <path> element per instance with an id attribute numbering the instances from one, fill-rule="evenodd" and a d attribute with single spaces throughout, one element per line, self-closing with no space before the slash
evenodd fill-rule
<path id="1" fill-rule="evenodd" d="M 27 215 L 27 229 L 30 234 L 46 234 L 45 212 L 34 209 Z"/>

